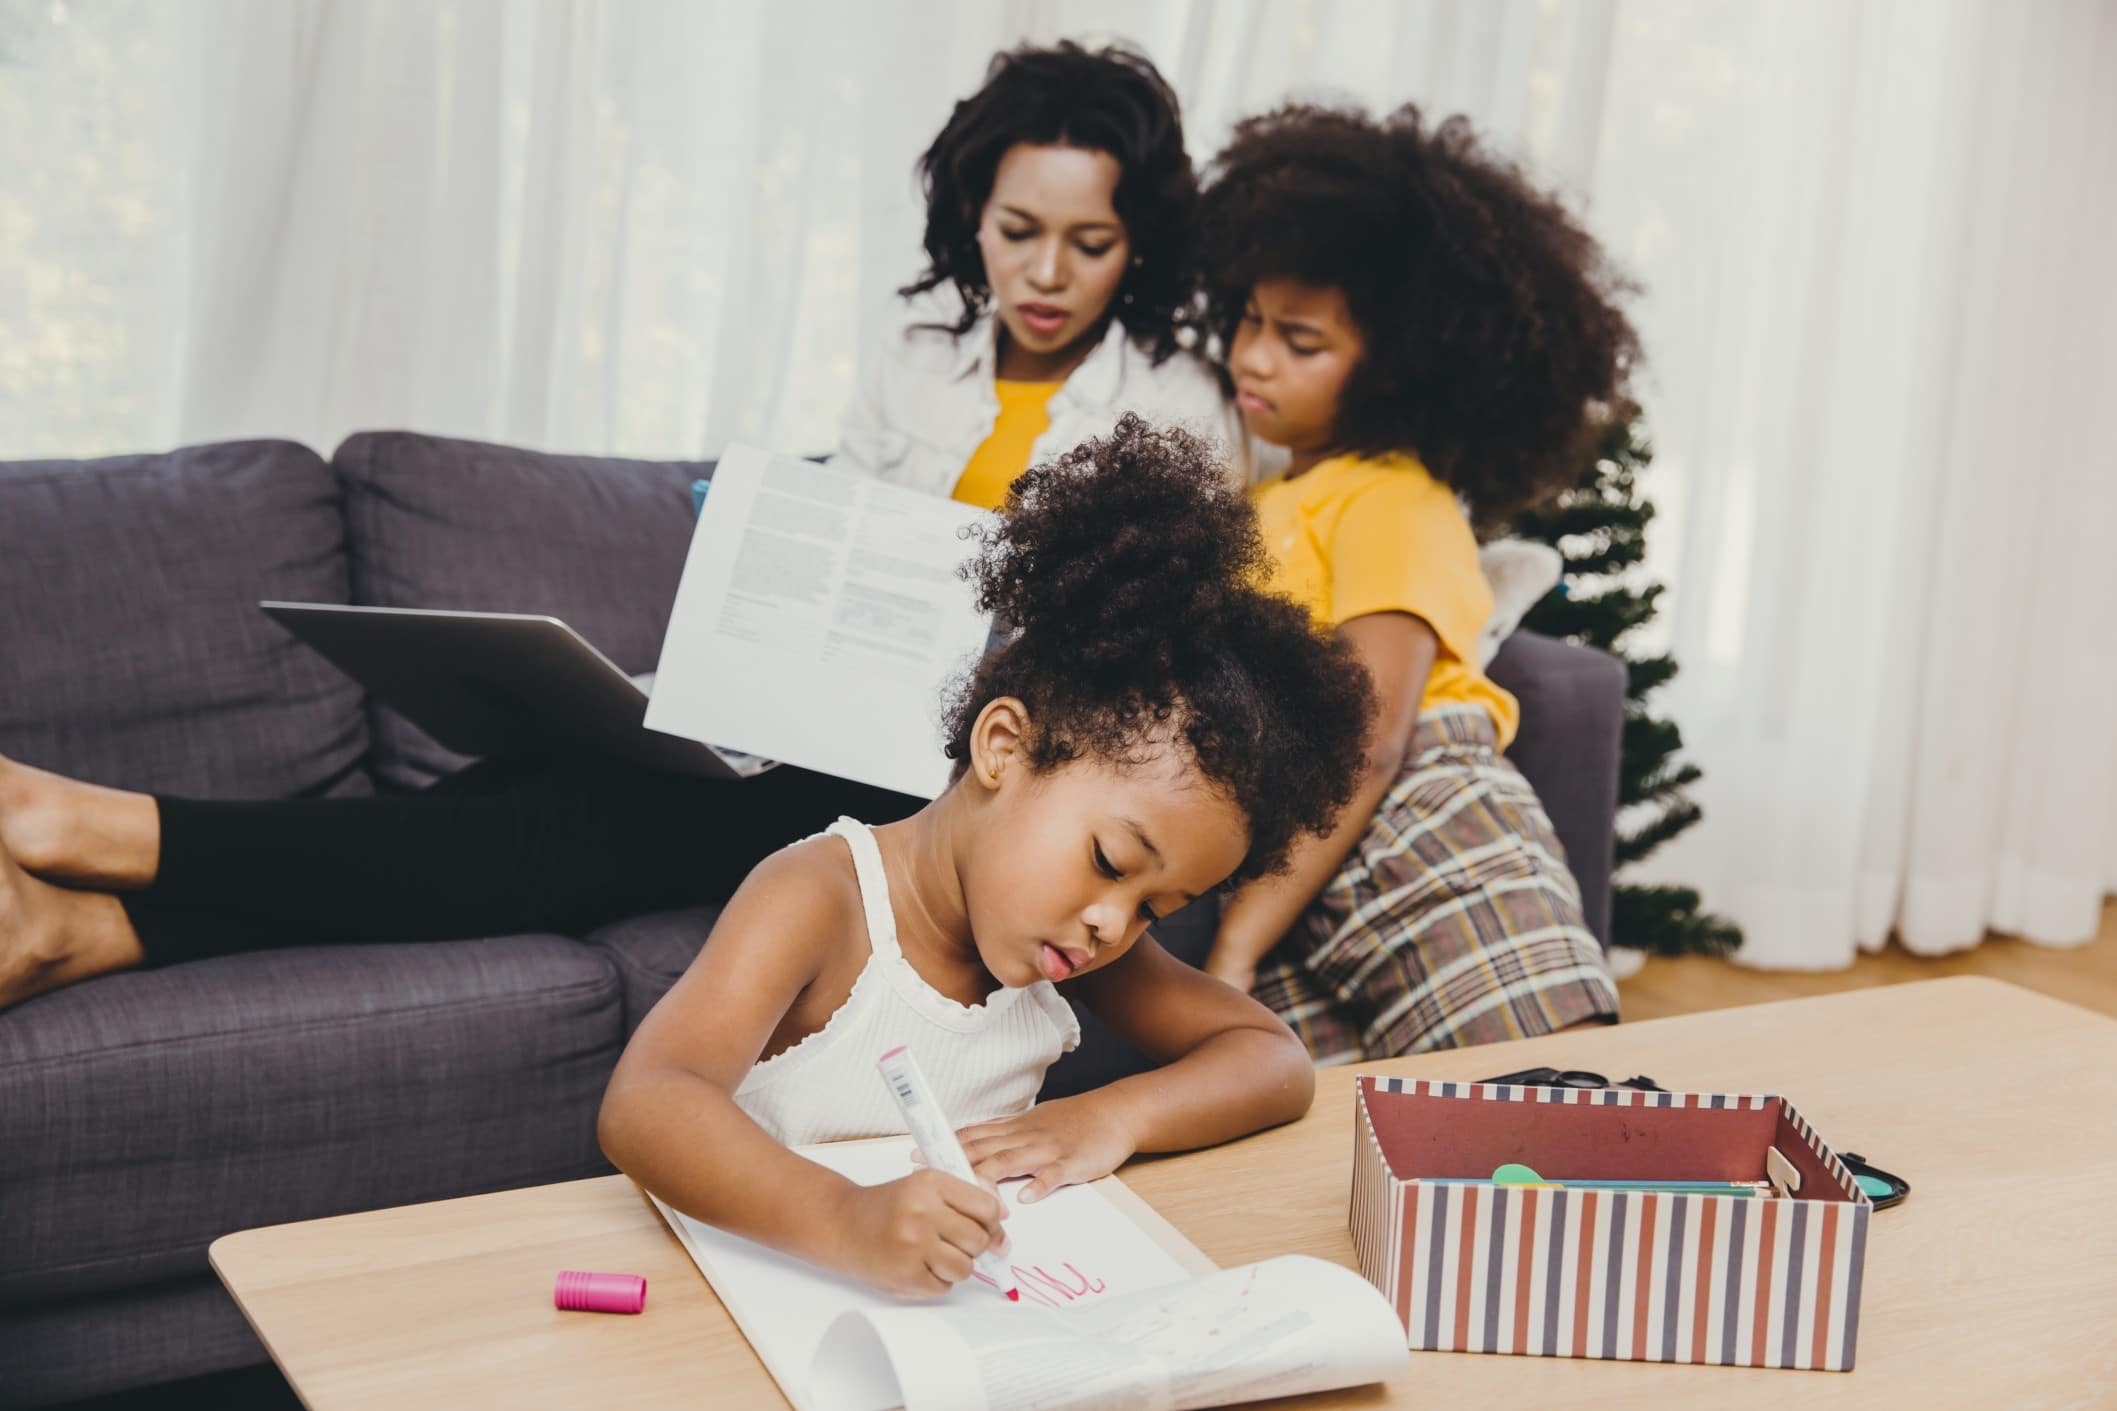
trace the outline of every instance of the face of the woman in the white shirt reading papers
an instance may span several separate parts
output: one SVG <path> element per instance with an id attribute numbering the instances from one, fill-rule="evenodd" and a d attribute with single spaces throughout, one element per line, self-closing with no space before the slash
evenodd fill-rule
<path id="1" fill-rule="evenodd" d="M 1103 328 L 1133 258 L 1111 205 L 1120 176 L 1109 152 L 1020 142 L 999 159 L 978 218 L 978 254 L 1008 338 L 1061 377 L 1067 368 L 1056 364 Z"/>

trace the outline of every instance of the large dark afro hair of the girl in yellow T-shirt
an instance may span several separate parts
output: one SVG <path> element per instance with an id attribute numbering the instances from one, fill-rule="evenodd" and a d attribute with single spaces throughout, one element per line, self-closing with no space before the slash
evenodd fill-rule
<path id="1" fill-rule="evenodd" d="M 1344 292 L 1365 355 L 1338 448 L 1412 451 L 1480 520 L 1571 484 L 1628 406 L 1632 292 L 1600 245 L 1461 116 L 1429 127 L 1293 104 L 1234 127 L 1198 212 L 1211 328 L 1232 347 L 1249 292 Z"/>

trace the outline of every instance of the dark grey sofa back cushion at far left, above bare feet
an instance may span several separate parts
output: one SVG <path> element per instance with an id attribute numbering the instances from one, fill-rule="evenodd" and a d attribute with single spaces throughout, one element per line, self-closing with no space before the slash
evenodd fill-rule
<path id="1" fill-rule="evenodd" d="M 0 753 L 159 793 L 366 791 L 360 690 L 258 599 L 347 601 L 307 446 L 0 463 Z"/>

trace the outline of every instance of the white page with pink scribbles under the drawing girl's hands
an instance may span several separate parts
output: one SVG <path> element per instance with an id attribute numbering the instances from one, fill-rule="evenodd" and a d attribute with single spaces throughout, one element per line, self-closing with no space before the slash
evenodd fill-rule
<path id="1" fill-rule="evenodd" d="M 800 1147 L 798 1151 L 860 1185 L 881 1185 L 915 1170 L 910 1138 Z M 824 1333 L 843 1314 L 951 1307 L 987 1309 L 1023 1320 L 1035 1316 L 1031 1309 L 1092 1307 L 1107 1299 L 1194 1278 L 1175 1254 L 1156 1244 L 1097 1187 L 1065 1187 L 1029 1206 L 1014 1202 L 1020 1187 L 1023 1183 L 1001 1187 L 1010 1206 L 1006 1259 L 1023 1288 L 1018 1305 L 1008 1303 L 976 1278 L 959 1284 L 944 1299 L 906 1303 L 790 1254 L 701 1225 L 667 1206 L 663 1206 L 663 1216 L 690 1250 L 707 1282 L 713 1284 L 713 1293 L 728 1305 L 749 1345 L 779 1381 L 779 1390 L 796 1407 L 813 1409 L 821 1403 L 813 1398 L 809 1388 L 811 1364 Z M 868 1386 L 874 1396 L 883 1398 L 868 1405 L 876 1409 L 898 1405 L 891 1400 L 895 1398 L 895 1381 L 887 1367 Z M 857 1405 L 857 1396 L 832 1405 Z"/>

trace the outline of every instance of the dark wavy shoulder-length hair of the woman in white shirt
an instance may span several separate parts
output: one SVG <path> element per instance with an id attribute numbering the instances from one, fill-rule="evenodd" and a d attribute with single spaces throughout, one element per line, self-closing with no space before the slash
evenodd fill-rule
<path id="1" fill-rule="evenodd" d="M 1175 91 L 1145 55 L 1120 44 L 1082 49 L 1061 40 L 1050 49 L 1025 44 L 993 55 L 984 87 L 955 106 L 919 159 L 927 269 L 898 294 L 912 298 L 953 283 L 963 317 L 948 330 L 970 332 L 993 303 L 978 254 L 978 222 L 999 159 L 1023 142 L 1118 159 L 1111 205 L 1133 243 L 1133 262 L 1111 307 L 1124 332 L 1156 362 L 1169 358 L 1196 283 L 1190 237 L 1198 178 L 1183 150 Z"/>

